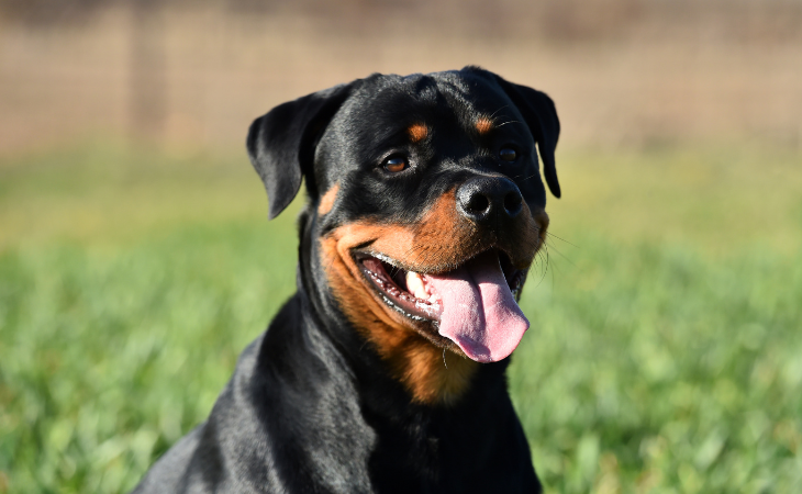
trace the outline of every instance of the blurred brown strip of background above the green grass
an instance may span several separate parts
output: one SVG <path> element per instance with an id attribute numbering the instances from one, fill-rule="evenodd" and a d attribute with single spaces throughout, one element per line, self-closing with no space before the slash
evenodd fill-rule
<path id="1" fill-rule="evenodd" d="M 468 64 L 553 96 L 564 143 L 800 147 L 801 26 L 794 0 L 0 0 L 0 150 L 238 144 L 307 92 Z"/>

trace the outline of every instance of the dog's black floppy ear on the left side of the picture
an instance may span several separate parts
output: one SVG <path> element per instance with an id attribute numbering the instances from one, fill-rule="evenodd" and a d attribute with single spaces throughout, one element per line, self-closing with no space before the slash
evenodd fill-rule
<path id="1" fill-rule="evenodd" d="M 270 220 L 292 202 L 301 188 L 301 179 L 313 176 L 318 141 L 355 83 L 335 86 L 279 104 L 250 124 L 248 157 L 265 182 Z"/>

